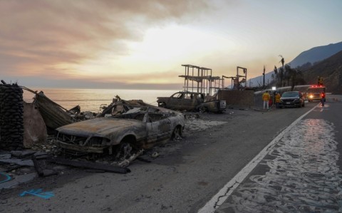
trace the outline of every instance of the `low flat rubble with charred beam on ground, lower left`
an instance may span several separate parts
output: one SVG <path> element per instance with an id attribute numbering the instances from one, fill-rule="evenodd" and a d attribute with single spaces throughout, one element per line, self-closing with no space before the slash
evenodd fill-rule
<path id="1" fill-rule="evenodd" d="M 36 150 L 1 151 L 0 150 L 0 190 L 16 187 L 37 177 L 63 175 L 68 167 L 81 168 L 89 172 L 115 172 L 126 174 L 128 168 L 118 165 L 68 160 L 51 155 L 51 152 Z"/>

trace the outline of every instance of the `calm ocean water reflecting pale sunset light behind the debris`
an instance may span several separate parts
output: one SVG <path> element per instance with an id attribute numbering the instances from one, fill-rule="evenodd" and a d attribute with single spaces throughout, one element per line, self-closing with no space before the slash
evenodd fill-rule
<path id="1" fill-rule="evenodd" d="M 143 100 L 157 105 L 157 97 L 169 97 L 178 90 L 115 90 L 115 89 L 32 89 L 43 93 L 63 108 L 71 109 L 80 105 L 81 112 L 98 113 L 101 105 L 112 103 L 116 95 L 123 100 Z M 24 90 L 24 101 L 32 102 L 34 94 Z"/>

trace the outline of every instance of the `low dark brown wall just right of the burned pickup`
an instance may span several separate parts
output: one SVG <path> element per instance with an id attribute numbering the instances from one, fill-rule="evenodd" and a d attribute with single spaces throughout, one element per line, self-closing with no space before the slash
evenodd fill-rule
<path id="1" fill-rule="evenodd" d="M 219 100 L 226 100 L 227 105 L 254 105 L 254 90 L 219 90 Z"/>

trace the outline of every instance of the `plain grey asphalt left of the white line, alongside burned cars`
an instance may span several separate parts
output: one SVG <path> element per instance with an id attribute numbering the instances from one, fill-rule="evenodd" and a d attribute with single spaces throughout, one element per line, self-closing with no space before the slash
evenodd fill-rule
<path id="1" fill-rule="evenodd" d="M 152 152 L 160 157 L 150 163 L 135 161 L 126 175 L 75 170 L 6 189 L 1 191 L 0 212 L 198 212 L 277 135 L 317 104 L 269 112 L 234 108 L 222 115 L 200 115 L 208 122 L 227 123 L 185 133 L 182 141 L 155 148 Z M 341 102 L 328 100 L 325 108 L 316 108 L 307 118 L 325 120 L 328 133 L 341 141 L 340 109 Z M 341 145 L 336 150 L 341 153 Z M 339 167 L 341 163 L 338 159 Z M 267 169 L 258 171 L 263 175 L 260 171 Z M 19 195 L 31 189 L 53 196 Z M 234 209 L 234 203 L 225 209 Z M 219 211 L 225 211 L 223 205 Z"/>

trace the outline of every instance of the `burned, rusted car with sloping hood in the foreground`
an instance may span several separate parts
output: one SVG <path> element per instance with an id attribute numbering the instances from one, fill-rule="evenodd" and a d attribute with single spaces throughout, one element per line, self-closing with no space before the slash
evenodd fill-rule
<path id="1" fill-rule="evenodd" d="M 122 107 L 120 103 L 115 104 Z M 58 128 L 56 141 L 64 152 L 112 154 L 118 145 L 148 149 L 157 142 L 179 137 L 184 129 L 182 113 L 152 105 L 125 105 L 121 115 L 94 118 Z M 113 108 L 115 110 L 115 108 Z"/>

